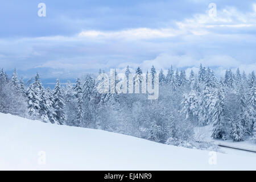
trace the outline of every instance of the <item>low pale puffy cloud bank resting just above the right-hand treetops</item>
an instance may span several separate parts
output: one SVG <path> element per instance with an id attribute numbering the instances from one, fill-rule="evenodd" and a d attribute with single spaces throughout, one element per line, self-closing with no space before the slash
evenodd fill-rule
<path id="1" fill-rule="evenodd" d="M 168 68 L 171 68 L 172 66 L 174 69 L 185 69 L 185 72 L 189 75 L 191 70 L 197 73 L 201 63 L 205 67 L 214 69 L 217 76 L 224 76 L 226 69 L 232 69 L 233 72 L 236 72 L 236 69 L 240 68 L 241 71 L 245 71 L 246 73 L 256 70 L 256 63 L 242 64 L 240 61 L 229 55 L 213 55 L 205 56 L 202 59 L 196 59 L 196 57 L 193 57 L 192 55 L 177 56 L 168 55 L 166 53 L 162 53 L 152 60 L 144 60 L 141 64 L 135 65 L 133 69 L 139 66 L 146 72 L 147 70 L 150 70 L 152 65 L 154 65 L 157 71 L 164 69 L 164 73 L 167 73 Z M 122 63 L 122 65 L 125 66 L 128 65 L 128 63 Z"/>

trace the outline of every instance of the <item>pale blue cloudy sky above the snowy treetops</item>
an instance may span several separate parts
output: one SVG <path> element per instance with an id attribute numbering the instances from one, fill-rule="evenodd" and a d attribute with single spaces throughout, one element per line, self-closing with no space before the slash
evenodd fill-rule
<path id="1" fill-rule="evenodd" d="M 46 16 L 38 16 L 45 3 Z M 216 5 L 216 14 L 213 6 Z M 200 63 L 256 70 L 255 1 L 3 1 L 0 68 L 29 78 L 75 78 L 152 65 L 197 71 Z"/>

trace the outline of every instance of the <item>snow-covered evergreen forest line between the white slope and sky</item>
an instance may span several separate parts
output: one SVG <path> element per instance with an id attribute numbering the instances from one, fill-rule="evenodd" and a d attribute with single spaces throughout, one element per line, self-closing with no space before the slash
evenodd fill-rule
<path id="1" fill-rule="evenodd" d="M 99 72 L 101 73 L 101 71 Z M 129 66 L 125 75 L 131 73 Z M 116 73 L 117 74 L 117 73 Z M 135 78 L 142 69 L 135 70 Z M 156 74 L 154 66 L 147 77 Z M 140 77 L 138 77 L 140 78 Z M 154 80 L 154 79 L 152 79 Z M 118 84 L 116 78 L 115 84 Z M 0 111 L 43 122 L 89 127 L 133 135 L 165 143 L 170 138 L 195 140 L 193 128 L 212 125 L 212 138 L 256 141 L 255 73 L 248 76 L 229 69 L 217 78 L 210 68 L 200 65 L 189 77 L 184 70 L 171 67 L 167 75 L 159 72 L 159 98 L 147 94 L 98 93 L 100 80 L 92 75 L 56 81 L 53 90 L 44 88 L 37 73 L 28 87 L 16 70 L 11 78 L 0 73 Z M 129 80 L 127 79 L 127 85 Z M 110 85 L 112 86 L 112 85 Z M 129 90 L 127 90 L 129 92 Z"/>

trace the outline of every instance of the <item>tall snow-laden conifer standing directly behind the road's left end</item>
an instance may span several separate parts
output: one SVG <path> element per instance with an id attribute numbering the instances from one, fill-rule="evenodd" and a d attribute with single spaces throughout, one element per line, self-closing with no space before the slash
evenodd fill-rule
<path id="1" fill-rule="evenodd" d="M 211 110 L 213 115 L 213 133 L 212 138 L 227 139 L 227 123 L 226 123 L 226 107 L 224 103 L 224 88 L 220 87 L 217 89 L 216 98 Z"/>

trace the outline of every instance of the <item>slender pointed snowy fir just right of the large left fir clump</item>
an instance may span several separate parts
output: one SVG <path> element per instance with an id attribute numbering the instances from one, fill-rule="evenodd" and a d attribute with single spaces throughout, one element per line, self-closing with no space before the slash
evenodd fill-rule
<path id="1" fill-rule="evenodd" d="M 65 124 L 65 103 L 63 99 L 63 91 L 60 86 L 60 80 L 56 80 L 55 88 L 53 89 L 53 108 L 54 108 L 54 115 L 53 117 L 57 121 L 59 125 Z"/>

